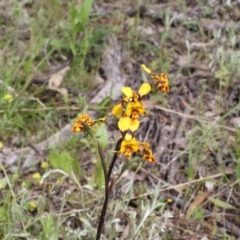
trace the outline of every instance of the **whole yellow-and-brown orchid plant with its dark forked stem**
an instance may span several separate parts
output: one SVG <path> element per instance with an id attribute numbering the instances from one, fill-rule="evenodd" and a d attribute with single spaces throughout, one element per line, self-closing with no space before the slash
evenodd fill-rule
<path id="1" fill-rule="evenodd" d="M 115 153 L 108 170 L 106 169 L 105 159 L 99 142 L 97 145 L 105 175 L 105 201 L 98 225 L 97 240 L 101 237 L 110 192 L 115 183 L 115 181 L 110 183 L 110 176 L 117 157 L 120 154 L 124 154 L 127 159 L 130 159 L 132 158 L 132 153 L 137 153 L 142 159 L 147 160 L 150 163 L 156 163 L 156 159 L 152 154 L 149 143 L 139 142 L 135 138 L 135 132 L 139 129 L 140 118 L 146 114 L 142 97 L 149 94 L 153 91 L 153 89 L 158 89 L 162 92 L 168 93 L 168 78 L 165 73 L 161 73 L 160 75 L 153 74 L 152 71 L 144 64 L 142 64 L 141 67 L 150 75 L 150 77 L 154 80 L 154 83 L 152 85 L 149 83 L 143 83 L 138 92 L 133 91 L 130 87 L 122 87 L 121 91 L 123 93 L 123 97 L 121 103 L 112 108 L 112 114 L 119 118 L 118 128 L 122 133 L 122 138 L 120 138 L 116 144 Z M 106 118 L 99 118 L 92 120 L 88 114 L 80 115 L 74 122 L 72 132 L 85 132 L 91 135 L 91 131 L 89 131 L 89 129 L 95 123 L 104 121 L 105 119 Z M 93 135 L 91 136 L 93 137 Z"/>

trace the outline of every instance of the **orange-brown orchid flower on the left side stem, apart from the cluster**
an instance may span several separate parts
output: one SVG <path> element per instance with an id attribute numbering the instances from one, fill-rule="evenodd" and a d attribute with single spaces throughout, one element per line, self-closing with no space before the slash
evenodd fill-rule
<path id="1" fill-rule="evenodd" d="M 104 121 L 106 117 L 92 120 L 88 114 L 79 116 L 72 127 L 72 132 L 84 131 L 86 127 L 92 127 L 98 121 Z"/>

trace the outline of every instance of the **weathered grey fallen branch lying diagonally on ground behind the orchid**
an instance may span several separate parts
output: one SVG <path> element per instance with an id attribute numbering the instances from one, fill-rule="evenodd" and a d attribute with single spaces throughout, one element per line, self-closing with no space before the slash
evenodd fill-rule
<path id="1" fill-rule="evenodd" d="M 122 62 L 121 48 L 115 38 L 109 39 L 108 47 L 105 50 L 102 68 L 107 77 L 107 81 L 103 88 L 91 99 L 90 104 L 101 102 L 105 97 L 111 96 L 113 100 L 117 100 L 121 96 L 121 87 L 126 82 L 126 77 L 120 71 Z M 91 116 L 95 115 L 94 111 L 88 111 Z M 0 151 L 0 163 L 10 172 L 16 172 L 18 168 L 21 170 L 28 169 L 40 162 L 47 149 L 56 148 L 58 145 L 64 144 L 72 137 L 71 124 L 67 124 L 59 132 L 55 133 L 48 139 L 34 145 L 22 149 L 12 149 L 4 147 Z M 40 154 L 39 154 L 40 153 Z"/>

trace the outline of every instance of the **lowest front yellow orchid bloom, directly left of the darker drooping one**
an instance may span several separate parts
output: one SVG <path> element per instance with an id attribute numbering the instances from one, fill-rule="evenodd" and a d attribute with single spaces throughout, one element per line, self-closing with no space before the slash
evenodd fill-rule
<path id="1" fill-rule="evenodd" d="M 141 150 L 139 149 L 136 138 L 133 138 L 130 134 L 126 134 L 118 153 L 123 153 L 125 157 L 129 159 L 132 157 L 132 152 L 141 152 Z"/>

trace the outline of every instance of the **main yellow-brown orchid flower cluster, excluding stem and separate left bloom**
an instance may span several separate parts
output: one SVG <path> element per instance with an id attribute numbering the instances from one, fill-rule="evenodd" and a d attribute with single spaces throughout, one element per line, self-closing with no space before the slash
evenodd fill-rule
<path id="1" fill-rule="evenodd" d="M 144 64 L 142 64 L 142 68 L 149 73 L 152 79 L 155 80 L 155 84 L 153 86 L 162 92 L 169 92 L 166 74 L 162 73 L 160 76 L 154 75 Z M 138 142 L 134 137 L 134 134 L 140 125 L 140 117 L 146 114 L 141 99 L 143 96 L 149 94 L 151 89 L 152 86 L 149 83 L 143 83 L 137 93 L 130 87 L 122 87 L 122 101 L 120 104 L 113 107 L 112 114 L 120 117 L 118 121 L 118 128 L 123 135 L 125 135 L 119 153 L 123 153 L 125 157 L 129 159 L 132 157 L 132 152 L 136 152 L 142 156 L 142 159 L 155 163 L 156 159 L 152 154 L 149 143 Z M 129 131 L 131 134 L 127 133 Z"/>

